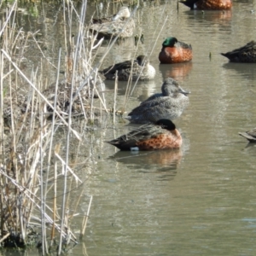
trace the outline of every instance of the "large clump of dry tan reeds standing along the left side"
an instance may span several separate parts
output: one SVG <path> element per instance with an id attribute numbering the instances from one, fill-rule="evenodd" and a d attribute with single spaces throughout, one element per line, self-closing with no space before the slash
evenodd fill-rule
<path id="1" fill-rule="evenodd" d="M 63 4 L 63 17 L 68 19 L 69 15 L 77 14 L 72 3 L 65 6 L 63 1 Z M 71 30 L 64 29 L 67 33 L 66 73 L 60 82 L 63 49 L 60 49 L 58 63 L 50 62 L 40 48 L 36 32 L 24 32 L 15 26 L 16 9 L 17 2 L 6 9 L 6 18 L 0 27 L 0 243 L 5 247 L 26 247 L 40 241 L 44 254 L 49 253 L 49 245 L 57 239 L 61 253 L 61 245 L 77 243 L 70 221 L 83 195 L 79 191 L 78 201 L 72 202 L 68 191 L 76 191 L 87 178 L 81 179 L 76 173 L 81 165 L 88 175 L 93 168 L 88 160 L 80 165 L 70 160 L 71 137 L 77 141 L 77 147 L 81 143 L 81 131 L 72 126 L 74 112 L 85 120 L 94 119 L 96 109 L 100 114 L 108 113 L 101 93 L 102 83 L 95 86 L 100 64 L 93 67 L 95 49 L 102 41 L 96 43 L 84 28 L 86 5 L 83 4 L 78 15 L 77 40 L 74 41 Z M 46 90 L 41 75 L 43 67 L 34 67 L 29 74 L 20 68 L 31 44 L 42 54 L 41 66 L 47 61 L 55 68 L 56 81 Z M 94 96 L 98 97 L 98 106 Z M 62 143 L 56 143 L 58 127 L 66 132 Z M 91 200 L 89 197 L 80 237 L 85 232 Z M 71 203 L 74 206 L 70 207 Z"/>

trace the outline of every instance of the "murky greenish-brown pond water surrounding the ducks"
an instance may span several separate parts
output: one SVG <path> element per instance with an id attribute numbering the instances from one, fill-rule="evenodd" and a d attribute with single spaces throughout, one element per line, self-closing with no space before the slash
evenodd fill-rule
<path id="1" fill-rule="evenodd" d="M 95 8 L 90 3 L 88 13 Z M 115 9 L 110 4 L 109 12 Z M 136 47 L 133 38 L 115 44 L 102 67 L 152 51 L 156 78 L 137 85 L 126 111 L 160 91 L 166 77 L 177 79 L 191 91 L 189 108 L 175 120 L 183 148 L 119 152 L 104 141 L 128 131 L 122 122 L 92 132 L 88 147 L 99 158 L 84 184 L 81 211 L 87 209 L 85 195 L 93 195 L 93 202 L 84 243 L 73 248 L 73 255 L 255 255 L 256 148 L 238 132 L 255 126 L 256 66 L 229 63 L 220 55 L 255 39 L 251 9 L 253 0 L 234 1 L 224 13 L 189 11 L 181 4 L 177 12 L 176 1 L 138 9 L 137 33 L 143 32 L 144 44 Z M 192 62 L 159 64 L 168 36 L 192 45 Z M 113 82 L 106 84 L 113 89 Z M 120 82 L 118 108 L 125 89 Z M 111 103 L 112 92 L 107 97 Z M 81 221 L 76 218 L 74 230 Z"/>

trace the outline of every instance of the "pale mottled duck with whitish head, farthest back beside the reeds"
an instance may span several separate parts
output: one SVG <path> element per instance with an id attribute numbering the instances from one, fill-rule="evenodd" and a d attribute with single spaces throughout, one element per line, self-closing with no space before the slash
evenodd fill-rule
<path id="1" fill-rule="evenodd" d="M 135 22 L 131 17 L 130 10 L 122 6 L 116 15 L 102 19 L 92 19 L 89 30 L 96 34 L 96 38 L 130 38 L 134 32 Z"/>

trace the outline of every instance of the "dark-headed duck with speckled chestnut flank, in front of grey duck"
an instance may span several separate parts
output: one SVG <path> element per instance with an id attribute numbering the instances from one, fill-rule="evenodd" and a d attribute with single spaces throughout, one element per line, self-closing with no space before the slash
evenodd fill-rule
<path id="1" fill-rule="evenodd" d="M 183 139 L 172 120 L 160 119 L 106 143 L 120 150 L 159 150 L 180 148 Z"/>

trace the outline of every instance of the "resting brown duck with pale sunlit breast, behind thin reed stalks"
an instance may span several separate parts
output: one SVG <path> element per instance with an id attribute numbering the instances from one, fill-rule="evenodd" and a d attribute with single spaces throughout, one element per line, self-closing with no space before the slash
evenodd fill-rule
<path id="1" fill-rule="evenodd" d="M 108 80 L 114 80 L 116 72 L 120 81 L 128 81 L 130 77 L 133 81 L 151 80 L 155 76 L 155 69 L 145 55 L 138 55 L 134 61 L 119 62 L 100 71 Z"/>

